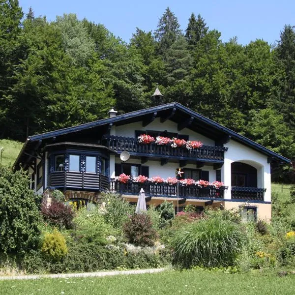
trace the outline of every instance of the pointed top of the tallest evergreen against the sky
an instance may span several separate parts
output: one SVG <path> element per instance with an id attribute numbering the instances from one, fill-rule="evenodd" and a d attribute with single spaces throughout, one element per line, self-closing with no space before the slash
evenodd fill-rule
<path id="1" fill-rule="evenodd" d="M 169 7 L 167 7 L 164 14 L 159 19 L 158 27 L 154 32 L 155 39 L 158 42 L 158 51 L 160 54 L 165 54 L 165 52 L 175 42 L 177 36 L 181 34 L 181 30 L 179 28 L 180 25 L 177 17 L 169 9 Z"/>

